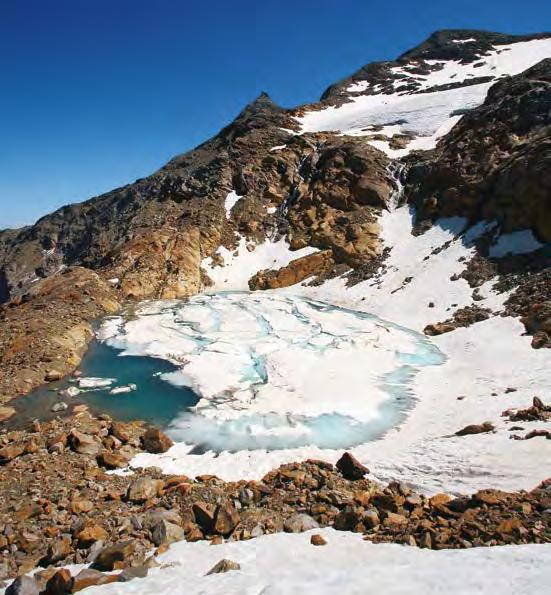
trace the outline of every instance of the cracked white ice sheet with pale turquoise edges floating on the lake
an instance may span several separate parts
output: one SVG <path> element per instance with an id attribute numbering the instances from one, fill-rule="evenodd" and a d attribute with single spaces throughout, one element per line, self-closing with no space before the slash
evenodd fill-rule
<path id="1" fill-rule="evenodd" d="M 177 366 L 161 378 L 199 401 L 169 431 L 196 452 L 367 442 L 411 405 L 418 368 L 443 361 L 414 331 L 271 292 L 148 302 L 106 321 L 99 339 Z"/>

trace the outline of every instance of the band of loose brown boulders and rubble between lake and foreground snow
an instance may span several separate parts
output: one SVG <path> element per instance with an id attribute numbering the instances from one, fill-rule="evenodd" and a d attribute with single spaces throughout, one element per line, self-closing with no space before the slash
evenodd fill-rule
<path id="1" fill-rule="evenodd" d="M 1 437 L 0 580 L 43 568 L 8 592 L 71 593 L 145 576 L 158 553 L 183 539 L 215 545 L 332 526 L 373 542 L 432 549 L 551 542 L 551 480 L 529 492 L 427 497 L 370 480 L 349 453 L 336 466 L 282 465 L 261 481 L 166 476 L 155 468 L 113 474 L 137 452 L 162 453 L 172 443 L 141 422 L 82 409 Z M 538 399 L 504 414 L 529 422 L 548 419 L 551 408 Z M 476 431 L 464 432 L 466 440 L 470 433 Z M 323 538 L 313 536 L 312 543 L 323 545 Z M 76 578 L 58 569 L 73 563 L 89 568 Z"/>

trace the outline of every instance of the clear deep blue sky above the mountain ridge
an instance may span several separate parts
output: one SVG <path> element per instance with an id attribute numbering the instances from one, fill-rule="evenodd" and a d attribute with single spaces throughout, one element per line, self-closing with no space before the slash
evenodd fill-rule
<path id="1" fill-rule="evenodd" d="M 0 228 L 153 172 L 262 90 L 313 101 L 435 29 L 550 16 L 548 0 L 0 0 Z"/>

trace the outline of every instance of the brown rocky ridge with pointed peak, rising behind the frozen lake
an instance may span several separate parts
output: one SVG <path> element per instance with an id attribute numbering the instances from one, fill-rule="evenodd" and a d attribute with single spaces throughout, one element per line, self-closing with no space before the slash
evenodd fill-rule
<path id="1" fill-rule="evenodd" d="M 376 215 L 393 189 L 388 159 L 361 139 L 296 128 L 263 94 L 151 176 L 0 232 L 0 299 L 74 265 L 118 279 L 121 297 L 185 298 L 201 288 L 201 260 L 234 247 L 236 233 L 257 243 L 287 235 L 349 266 L 372 258 Z M 241 198 L 229 216 L 231 190 Z"/>

